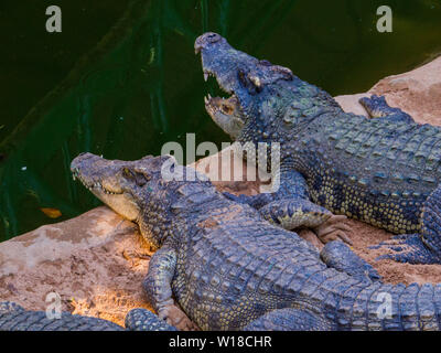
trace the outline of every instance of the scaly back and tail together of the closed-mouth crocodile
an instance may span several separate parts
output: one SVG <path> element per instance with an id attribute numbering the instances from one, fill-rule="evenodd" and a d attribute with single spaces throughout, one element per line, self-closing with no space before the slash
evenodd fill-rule
<path id="1" fill-rule="evenodd" d="M 172 280 L 176 301 L 202 330 L 240 330 L 283 308 L 313 312 L 331 330 L 439 329 L 441 285 L 354 278 L 326 267 L 311 244 L 249 206 L 211 205 L 193 213 L 197 220 L 176 223 L 187 238 L 179 244 Z M 378 314 L 384 296 L 392 303 L 386 319 Z"/>

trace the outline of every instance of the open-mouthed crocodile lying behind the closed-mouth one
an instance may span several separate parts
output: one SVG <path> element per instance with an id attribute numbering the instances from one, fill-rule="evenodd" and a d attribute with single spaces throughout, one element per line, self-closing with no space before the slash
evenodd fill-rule
<path id="1" fill-rule="evenodd" d="M 280 146 L 272 193 L 226 196 L 267 208 L 268 220 L 288 229 L 295 222 L 287 204 L 313 202 L 396 234 L 373 246 L 388 250 L 380 258 L 441 264 L 440 127 L 416 122 L 383 96 L 359 100 L 369 117 L 345 113 L 323 89 L 217 33 L 198 36 L 194 47 L 205 81 L 214 76 L 229 95 L 205 97 L 212 119 L 236 145 Z M 265 157 L 267 164 L 247 154 L 263 169 Z"/>

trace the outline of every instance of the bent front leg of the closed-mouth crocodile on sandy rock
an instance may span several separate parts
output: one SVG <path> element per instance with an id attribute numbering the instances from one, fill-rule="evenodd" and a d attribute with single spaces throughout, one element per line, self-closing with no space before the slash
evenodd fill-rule
<path id="1" fill-rule="evenodd" d="M 158 312 L 160 319 L 176 327 L 179 330 L 196 330 L 194 323 L 174 304 L 171 282 L 176 267 L 176 252 L 169 247 L 161 247 L 152 256 L 149 272 L 142 284 L 147 298 Z"/>

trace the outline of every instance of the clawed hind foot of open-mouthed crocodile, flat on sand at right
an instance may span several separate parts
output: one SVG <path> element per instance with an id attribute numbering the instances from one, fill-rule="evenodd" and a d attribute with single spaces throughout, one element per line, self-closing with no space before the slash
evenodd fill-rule
<path id="1" fill-rule="evenodd" d="M 433 254 L 422 242 L 420 234 L 401 234 L 378 245 L 369 246 L 370 249 L 387 248 L 392 254 L 378 256 L 376 259 L 392 259 L 398 263 L 412 265 L 441 264 L 441 258 Z"/>

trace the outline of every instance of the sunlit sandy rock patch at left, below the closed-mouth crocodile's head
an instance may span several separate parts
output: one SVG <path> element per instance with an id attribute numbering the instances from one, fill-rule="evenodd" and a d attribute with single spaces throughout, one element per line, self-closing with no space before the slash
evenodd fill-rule
<path id="1" fill-rule="evenodd" d="M 133 223 L 100 206 L 1 243 L 0 300 L 45 310 L 55 292 L 63 310 L 123 324 L 130 309 L 150 309 L 141 282 L 151 254 Z"/>

